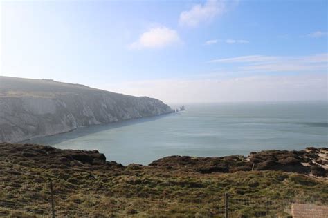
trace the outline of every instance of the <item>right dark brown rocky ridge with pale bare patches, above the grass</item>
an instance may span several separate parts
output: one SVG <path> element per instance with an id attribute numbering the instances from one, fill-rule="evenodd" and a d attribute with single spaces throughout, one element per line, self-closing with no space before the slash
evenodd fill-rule
<path id="1" fill-rule="evenodd" d="M 176 155 L 153 161 L 149 166 L 201 173 L 274 170 L 327 177 L 328 148 L 307 148 L 300 151 L 265 150 L 252 152 L 248 157 L 240 155 L 226 157 Z"/>

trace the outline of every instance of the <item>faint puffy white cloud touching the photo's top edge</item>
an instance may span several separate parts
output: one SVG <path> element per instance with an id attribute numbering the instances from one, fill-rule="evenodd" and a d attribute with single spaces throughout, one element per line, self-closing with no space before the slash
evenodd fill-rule
<path id="1" fill-rule="evenodd" d="M 196 27 L 199 23 L 210 21 L 215 16 L 222 14 L 225 10 L 224 2 L 221 0 L 208 0 L 203 5 L 192 6 L 188 11 L 183 11 L 179 17 L 181 26 Z"/>

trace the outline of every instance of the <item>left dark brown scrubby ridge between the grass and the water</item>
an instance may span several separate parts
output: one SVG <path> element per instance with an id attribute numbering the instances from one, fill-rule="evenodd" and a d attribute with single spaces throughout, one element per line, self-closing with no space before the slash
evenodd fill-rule
<path id="1" fill-rule="evenodd" d="M 0 159 L 36 168 L 83 168 L 86 170 L 120 170 L 122 164 L 106 161 L 98 150 L 60 150 L 51 146 L 0 143 Z"/>

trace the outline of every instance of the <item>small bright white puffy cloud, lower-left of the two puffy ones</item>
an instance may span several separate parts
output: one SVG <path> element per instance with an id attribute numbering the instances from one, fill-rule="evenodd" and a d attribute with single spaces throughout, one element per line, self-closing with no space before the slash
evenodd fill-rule
<path id="1" fill-rule="evenodd" d="M 129 45 L 129 48 L 163 48 L 180 42 L 181 39 L 176 30 L 167 27 L 156 27 L 141 34 L 137 41 Z"/>

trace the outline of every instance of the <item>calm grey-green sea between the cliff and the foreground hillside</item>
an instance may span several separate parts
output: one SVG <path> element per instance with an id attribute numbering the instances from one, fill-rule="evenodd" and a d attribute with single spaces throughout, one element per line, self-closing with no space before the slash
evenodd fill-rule
<path id="1" fill-rule="evenodd" d="M 216 157 L 327 147 L 327 103 L 217 103 L 184 112 L 79 128 L 28 141 L 99 150 L 107 160 L 149 164 L 168 155 Z"/>

